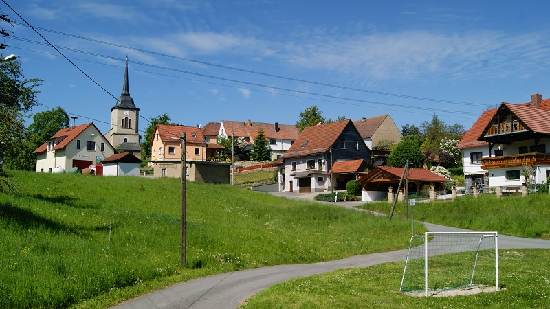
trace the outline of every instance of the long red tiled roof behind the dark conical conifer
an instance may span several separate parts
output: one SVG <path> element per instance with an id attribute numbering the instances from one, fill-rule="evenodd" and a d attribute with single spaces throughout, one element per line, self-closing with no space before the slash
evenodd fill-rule
<path id="1" fill-rule="evenodd" d="M 254 141 L 258 130 L 263 130 L 263 135 L 268 139 L 286 139 L 288 141 L 294 141 L 300 135 L 298 128 L 294 124 L 277 124 L 278 130 L 275 130 L 275 124 L 268 124 L 265 122 L 235 122 L 229 120 L 222 120 L 225 134 L 231 136 L 232 131 L 235 131 L 235 137 L 245 137 Z M 217 134 L 217 133 L 216 133 Z"/>

